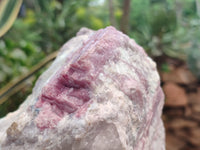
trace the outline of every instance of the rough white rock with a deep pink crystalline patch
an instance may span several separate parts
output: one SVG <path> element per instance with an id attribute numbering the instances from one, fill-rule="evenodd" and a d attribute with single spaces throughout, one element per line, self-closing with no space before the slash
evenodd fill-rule
<path id="1" fill-rule="evenodd" d="M 163 99 L 142 47 L 113 27 L 82 28 L 0 120 L 0 149 L 163 150 Z"/>

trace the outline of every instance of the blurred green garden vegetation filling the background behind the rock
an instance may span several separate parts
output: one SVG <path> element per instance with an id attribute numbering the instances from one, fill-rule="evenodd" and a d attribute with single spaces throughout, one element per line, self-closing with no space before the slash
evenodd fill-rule
<path id="1" fill-rule="evenodd" d="M 187 62 L 200 79 L 199 0 L 24 0 L 13 27 L 0 39 L 0 89 L 40 64 L 81 27 L 108 25 L 134 38 L 152 58 Z M 161 66 L 167 71 L 165 63 Z M 0 117 L 19 106 L 43 70 L 0 105 Z"/>

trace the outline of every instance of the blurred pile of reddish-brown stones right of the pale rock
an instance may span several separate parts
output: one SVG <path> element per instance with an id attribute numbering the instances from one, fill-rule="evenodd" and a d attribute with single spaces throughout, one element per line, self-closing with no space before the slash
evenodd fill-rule
<path id="1" fill-rule="evenodd" d="M 159 70 L 165 92 L 166 150 L 200 150 L 200 83 L 183 62 L 164 61 L 168 70 Z"/>

